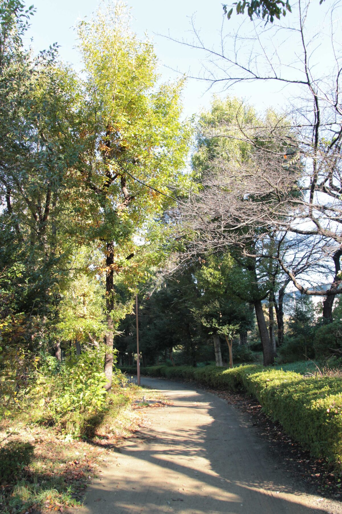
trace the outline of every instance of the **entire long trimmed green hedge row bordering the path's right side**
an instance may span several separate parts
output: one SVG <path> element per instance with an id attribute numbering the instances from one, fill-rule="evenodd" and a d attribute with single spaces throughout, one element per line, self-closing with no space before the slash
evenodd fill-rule
<path id="1" fill-rule="evenodd" d="M 121 368 L 128 374 L 136 368 Z M 236 368 L 150 366 L 141 374 L 192 379 L 207 386 L 246 391 L 286 433 L 316 457 L 326 457 L 342 470 L 342 381 L 333 377 L 304 377 L 291 371 L 249 364 Z"/>

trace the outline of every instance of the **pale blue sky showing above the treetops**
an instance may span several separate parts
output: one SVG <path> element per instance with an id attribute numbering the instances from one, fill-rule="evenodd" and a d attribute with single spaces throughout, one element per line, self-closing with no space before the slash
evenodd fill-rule
<path id="1" fill-rule="evenodd" d="M 310 30 L 315 23 L 316 25 L 318 23 L 321 28 L 324 18 L 323 7 L 318 5 L 318 0 L 314 0 L 313 3 L 317 5 L 313 7 L 313 23 L 310 22 Z M 179 45 L 165 37 L 170 34 L 174 39 L 192 41 L 194 38 L 191 28 L 192 17 L 194 26 L 200 31 L 206 45 L 210 48 L 213 46 L 219 48 L 222 24 L 225 33 L 231 33 L 233 36 L 238 31 L 242 31 L 241 33 L 248 37 L 249 32 L 253 30 L 253 23 L 246 16 L 232 16 L 230 21 L 223 19 L 222 2 L 216 0 L 173 0 L 172 2 L 166 2 L 165 0 L 128 0 L 128 5 L 131 7 L 134 31 L 141 38 L 144 38 L 144 34 L 147 32 L 155 43 L 155 51 L 160 60 L 162 80 L 179 77 L 179 74 L 172 69 L 186 74 L 190 71 L 194 76 L 201 72 L 200 59 L 205 57 L 203 52 Z M 76 32 L 74 27 L 78 20 L 91 16 L 98 6 L 97 0 L 35 0 L 34 6 L 36 14 L 31 20 L 27 43 L 29 43 L 30 38 L 33 38 L 33 48 L 38 51 L 57 42 L 60 45 L 59 52 L 62 59 L 71 63 L 76 69 L 81 69 L 82 65 L 79 62 L 79 56 L 75 48 Z M 318 11 L 318 9 L 320 10 Z M 243 27 L 240 28 L 242 22 Z M 314 30 L 312 28 L 313 33 Z M 226 44 L 227 47 L 231 46 L 232 39 L 227 39 Z M 273 40 L 273 42 L 265 44 L 271 53 L 274 52 L 276 41 Z M 298 45 L 298 39 L 295 37 L 290 38 L 283 46 L 279 43 L 279 46 L 284 50 L 284 61 L 289 56 L 290 60 L 293 61 L 297 53 L 296 45 Z M 320 49 L 317 49 L 319 45 Z M 248 41 L 240 48 L 240 54 L 242 52 L 245 57 L 248 55 L 247 47 Z M 322 56 L 327 54 L 326 45 L 322 38 L 320 38 L 319 44 L 315 45 L 315 49 L 319 56 L 318 64 L 320 63 L 319 65 L 322 66 L 322 63 L 325 62 Z M 281 59 L 283 60 L 283 58 Z M 227 92 L 222 92 L 222 85 L 210 91 L 207 89 L 207 83 L 188 79 L 184 91 L 185 116 L 191 116 L 200 112 L 203 108 L 209 108 L 213 93 L 222 96 L 227 94 Z M 270 106 L 279 107 L 279 105 L 283 105 L 288 97 L 284 93 L 283 85 L 274 82 L 268 84 L 254 82 L 246 85 L 240 83 L 230 89 L 229 94 L 244 98 L 248 103 L 255 105 L 259 112 Z"/>

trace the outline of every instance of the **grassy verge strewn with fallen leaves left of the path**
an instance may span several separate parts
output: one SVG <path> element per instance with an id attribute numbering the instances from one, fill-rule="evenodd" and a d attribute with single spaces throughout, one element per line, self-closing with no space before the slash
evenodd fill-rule
<path id="1" fill-rule="evenodd" d="M 32 422 L 22 413 L 0 425 L 0 512 L 63 512 L 82 503 L 106 453 L 140 425 L 140 405 L 153 405 L 154 391 L 131 384 L 108 396 L 108 408 L 88 420 L 87 437 L 75 439 L 58 426 Z"/>

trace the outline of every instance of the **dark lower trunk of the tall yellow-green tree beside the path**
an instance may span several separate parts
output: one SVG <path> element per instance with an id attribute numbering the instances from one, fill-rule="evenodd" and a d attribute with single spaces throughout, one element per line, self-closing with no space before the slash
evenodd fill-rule
<path id="1" fill-rule="evenodd" d="M 107 378 L 105 389 L 110 391 L 112 388 L 113 379 L 113 340 L 114 340 L 114 322 L 112 312 L 114 310 L 113 298 L 113 277 L 114 277 L 114 244 L 113 242 L 107 243 L 106 255 L 106 317 L 107 317 L 107 331 L 105 335 L 105 366 L 104 371 Z"/>

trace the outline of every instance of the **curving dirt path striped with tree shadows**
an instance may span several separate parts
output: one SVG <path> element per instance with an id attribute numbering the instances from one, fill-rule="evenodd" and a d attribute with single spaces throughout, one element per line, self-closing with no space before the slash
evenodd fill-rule
<path id="1" fill-rule="evenodd" d="M 148 426 L 109 456 L 82 514 L 342 514 L 342 504 L 306 494 L 277 466 L 246 414 L 192 386 L 142 384 L 174 405 L 148 409 Z"/>

